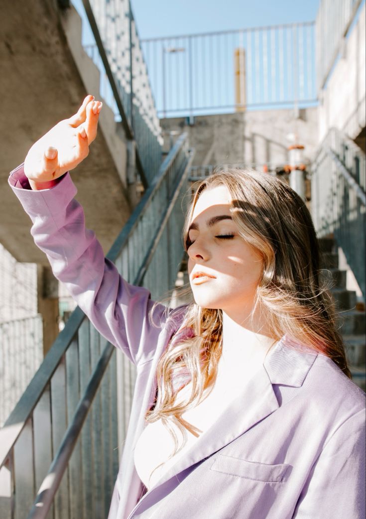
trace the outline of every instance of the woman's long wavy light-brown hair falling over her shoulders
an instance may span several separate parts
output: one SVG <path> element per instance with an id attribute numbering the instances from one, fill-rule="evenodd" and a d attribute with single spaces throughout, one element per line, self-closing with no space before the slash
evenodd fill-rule
<path id="1" fill-rule="evenodd" d="M 305 202 L 287 183 L 268 173 L 216 170 L 198 185 L 187 213 L 183 229 L 186 251 L 196 202 L 204 190 L 216 186 L 227 187 L 240 236 L 263 258 L 253 312 L 261 308 L 276 341 L 289 335 L 327 355 L 351 378 L 329 286 L 319 279 L 319 243 Z M 183 322 L 159 359 L 157 397 L 146 413 L 147 422 L 161 419 L 170 431 L 175 446 L 170 457 L 185 444 L 183 441 L 179 447 L 177 428 L 183 440 L 187 430 L 199 435 L 182 415 L 212 390 L 221 349 L 222 311 L 187 305 Z M 191 394 L 177 399 L 187 384 Z"/>

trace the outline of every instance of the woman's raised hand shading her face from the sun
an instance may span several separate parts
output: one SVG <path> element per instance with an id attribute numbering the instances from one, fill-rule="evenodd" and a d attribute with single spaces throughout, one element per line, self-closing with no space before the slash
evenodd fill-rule
<path id="1" fill-rule="evenodd" d="M 82 162 L 97 136 L 100 101 L 87 95 L 75 115 L 60 121 L 33 144 L 24 161 L 32 189 L 45 189 Z"/>

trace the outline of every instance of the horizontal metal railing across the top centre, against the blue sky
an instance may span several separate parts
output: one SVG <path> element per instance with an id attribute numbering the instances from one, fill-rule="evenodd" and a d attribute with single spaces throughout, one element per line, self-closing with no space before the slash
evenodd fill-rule
<path id="1" fill-rule="evenodd" d="M 317 100 L 315 22 L 142 39 L 160 117 Z"/>

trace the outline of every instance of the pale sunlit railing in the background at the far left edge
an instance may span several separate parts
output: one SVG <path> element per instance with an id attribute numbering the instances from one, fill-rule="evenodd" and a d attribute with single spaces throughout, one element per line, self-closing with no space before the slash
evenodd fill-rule
<path id="1" fill-rule="evenodd" d="M 43 360 L 40 314 L 0 322 L 0 427 Z"/>

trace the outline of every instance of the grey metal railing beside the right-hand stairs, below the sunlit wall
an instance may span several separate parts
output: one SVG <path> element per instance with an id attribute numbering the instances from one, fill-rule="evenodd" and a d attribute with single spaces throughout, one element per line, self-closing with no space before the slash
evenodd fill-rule
<path id="1" fill-rule="evenodd" d="M 311 213 L 319 237 L 334 233 L 364 298 L 365 190 L 365 155 L 353 141 L 332 128 L 312 167 Z"/>

